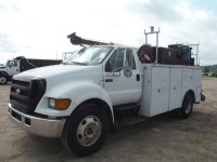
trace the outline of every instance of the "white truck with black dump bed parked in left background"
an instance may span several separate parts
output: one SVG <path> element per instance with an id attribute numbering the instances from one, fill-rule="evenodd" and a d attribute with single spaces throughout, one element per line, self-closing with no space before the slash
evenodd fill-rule
<path id="1" fill-rule="evenodd" d="M 61 64 L 61 59 L 34 59 L 24 56 L 9 59 L 4 66 L 0 67 L 0 84 L 7 84 L 12 80 L 14 75 L 20 72 L 50 65 Z"/>

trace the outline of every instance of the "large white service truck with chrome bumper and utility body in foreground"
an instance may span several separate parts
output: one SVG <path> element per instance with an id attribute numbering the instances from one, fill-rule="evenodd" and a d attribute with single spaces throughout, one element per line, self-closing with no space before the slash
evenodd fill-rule
<path id="1" fill-rule="evenodd" d="M 67 150 L 84 157 L 100 149 L 116 122 L 167 111 L 188 119 L 193 104 L 204 100 L 201 68 L 141 64 L 137 52 L 92 45 L 61 65 L 14 76 L 11 121 L 36 135 L 61 137 Z"/>

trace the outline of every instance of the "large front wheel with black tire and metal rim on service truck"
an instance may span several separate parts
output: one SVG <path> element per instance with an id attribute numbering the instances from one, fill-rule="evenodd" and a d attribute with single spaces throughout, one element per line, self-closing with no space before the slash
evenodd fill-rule
<path id="1" fill-rule="evenodd" d="M 97 152 L 108 131 L 107 114 L 103 108 L 86 104 L 67 119 L 62 143 L 71 152 L 85 157 Z"/>

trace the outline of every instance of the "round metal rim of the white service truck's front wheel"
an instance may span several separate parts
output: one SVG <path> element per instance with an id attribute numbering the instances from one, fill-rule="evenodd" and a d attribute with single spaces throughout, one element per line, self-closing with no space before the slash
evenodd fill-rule
<path id="1" fill-rule="evenodd" d="M 81 120 L 77 129 L 77 140 L 82 146 L 93 145 L 101 135 L 101 121 L 94 116 Z"/>

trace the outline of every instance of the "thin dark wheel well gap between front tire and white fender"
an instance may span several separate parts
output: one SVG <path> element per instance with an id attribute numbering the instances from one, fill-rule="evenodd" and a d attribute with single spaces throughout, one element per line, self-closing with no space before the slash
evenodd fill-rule
<path id="1" fill-rule="evenodd" d="M 110 124 L 113 125 L 113 114 L 112 114 L 111 108 L 104 100 L 99 99 L 99 98 L 92 98 L 92 99 L 88 99 L 88 100 L 81 103 L 80 105 L 84 105 L 84 104 L 94 104 L 94 105 L 102 107 L 108 114 Z M 78 105 L 77 107 L 79 107 L 80 105 Z"/>

